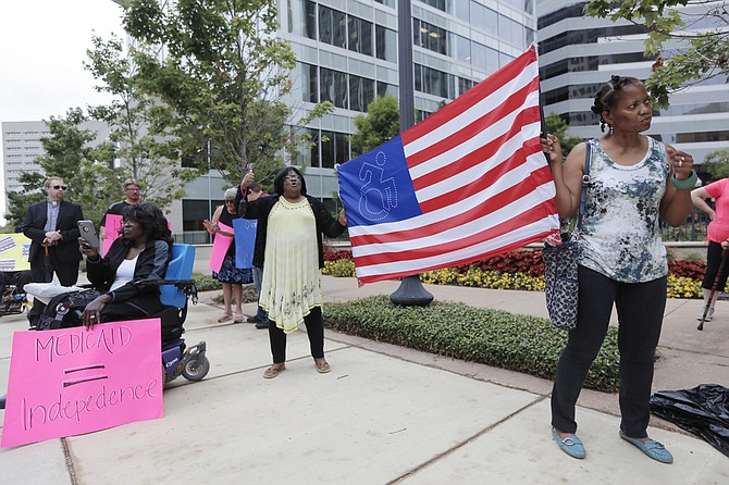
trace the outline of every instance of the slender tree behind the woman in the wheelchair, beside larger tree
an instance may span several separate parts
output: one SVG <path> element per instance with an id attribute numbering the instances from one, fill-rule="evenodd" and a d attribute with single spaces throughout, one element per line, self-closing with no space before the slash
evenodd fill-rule
<path id="1" fill-rule="evenodd" d="M 114 144 L 114 177 L 134 178 L 141 188 L 141 199 L 166 208 L 185 196 L 184 186 L 203 174 L 200 167 L 183 167 L 180 140 L 170 129 L 172 110 L 141 91 L 129 58 L 116 37 L 104 41 L 94 36 L 94 49 L 86 51 L 84 64 L 101 82 L 96 89 L 112 95 L 111 104 L 92 107 L 90 115 L 111 128 Z M 119 196 L 119 189 L 115 190 Z"/>

